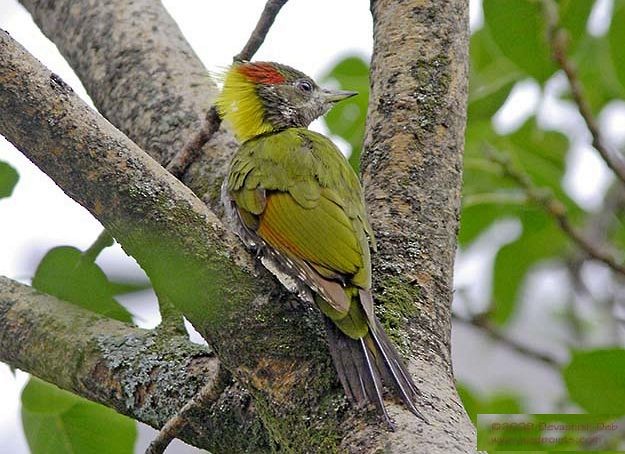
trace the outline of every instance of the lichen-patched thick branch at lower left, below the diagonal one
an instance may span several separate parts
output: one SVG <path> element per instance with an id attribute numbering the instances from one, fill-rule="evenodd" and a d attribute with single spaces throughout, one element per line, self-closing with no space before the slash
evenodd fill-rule
<path id="1" fill-rule="evenodd" d="M 155 428 L 210 388 L 204 424 L 179 437 L 216 452 L 268 450 L 249 395 L 235 397 L 214 354 L 186 336 L 131 327 L 0 277 L 0 346 L 0 361 Z"/>

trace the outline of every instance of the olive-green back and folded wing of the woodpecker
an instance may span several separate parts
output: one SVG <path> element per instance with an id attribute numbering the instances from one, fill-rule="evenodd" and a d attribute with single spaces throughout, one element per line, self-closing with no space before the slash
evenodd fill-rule
<path id="1" fill-rule="evenodd" d="M 242 221 L 272 248 L 335 286 L 371 286 L 372 235 L 362 191 L 330 140 L 294 128 L 245 142 L 233 159 L 228 190 Z M 345 313 L 350 300 L 347 295 L 347 306 L 328 303 Z"/>

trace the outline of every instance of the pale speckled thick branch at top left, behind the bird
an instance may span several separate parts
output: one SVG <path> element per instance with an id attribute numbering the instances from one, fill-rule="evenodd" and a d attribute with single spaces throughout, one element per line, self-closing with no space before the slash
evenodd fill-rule
<path id="1" fill-rule="evenodd" d="M 200 128 L 217 87 L 160 1 L 21 3 L 98 111 L 156 161 L 167 164 Z M 218 131 L 182 178 L 217 214 L 221 181 L 237 146 L 231 134 Z"/>

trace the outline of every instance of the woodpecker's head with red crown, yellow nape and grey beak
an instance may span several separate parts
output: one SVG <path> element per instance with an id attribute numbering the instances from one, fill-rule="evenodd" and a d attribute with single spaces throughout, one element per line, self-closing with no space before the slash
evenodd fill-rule
<path id="1" fill-rule="evenodd" d="M 235 63 L 216 101 L 241 141 L 267 132 L 307 127 L 353 91 L 320 88 L 306 74 L 273 62 Z"/>

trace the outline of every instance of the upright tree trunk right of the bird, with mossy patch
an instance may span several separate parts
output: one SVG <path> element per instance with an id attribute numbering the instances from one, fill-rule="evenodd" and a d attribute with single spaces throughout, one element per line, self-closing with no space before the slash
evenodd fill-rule
<path id="1" fill-rule="evenodd" d="M 404 350 L 431 425 L 395 433 L 411 452 L 475 450 L 450 333 L 466 122 L 468 2 L 372 0 L 374 49 L 363 182 L 378 239 L 375 300 Z M 403 419 L 402 419 L 403 421 Z M 411 420 L 404 421 L 411 425 Z M 412 435 L 407 439 L 406 434 Z"/>

